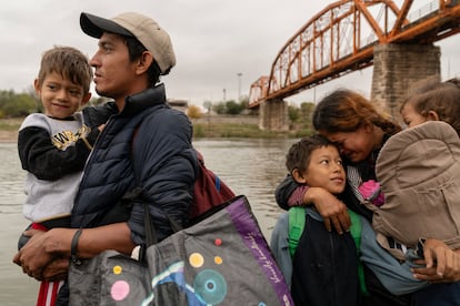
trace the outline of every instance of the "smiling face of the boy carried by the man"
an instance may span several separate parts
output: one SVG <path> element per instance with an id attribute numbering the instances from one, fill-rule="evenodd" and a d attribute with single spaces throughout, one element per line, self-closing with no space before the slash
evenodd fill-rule
<path id="1" fill-rule="evenodd" d="M 90 93 L 83 93 L 82 85 L 63 79 L 57 72 L 49 73 L 41 86 L 36 80 L 34 86 L 43 104 L 44 114 L 57 119 L 71 116 L 91 96 Z"/>

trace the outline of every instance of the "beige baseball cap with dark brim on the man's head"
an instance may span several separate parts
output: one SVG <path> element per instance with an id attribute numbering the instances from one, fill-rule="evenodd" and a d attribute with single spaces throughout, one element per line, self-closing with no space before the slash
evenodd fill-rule
<path id="1" fill-rule="evenodd" d="M 80 14 L 80 27 L 84 33 L 98 39 L 103 32 L 137 38 L 152 53 L 161 69 L 161 74 L 167 74 L 176 64 L 174 50 L 169 34 L 147 16 L 126 12 L 106 19 L 82 12 Z"/>

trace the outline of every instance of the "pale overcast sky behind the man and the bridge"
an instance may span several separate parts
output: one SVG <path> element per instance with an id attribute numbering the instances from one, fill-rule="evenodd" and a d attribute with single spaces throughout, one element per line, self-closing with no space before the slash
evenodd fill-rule
<path id="1" fill-rule="evenodd" d="M 420 2 L 424 0 L 419 0 Z M 419 1 L 414 1 L 416 3 Z M 177 67 L 162 78 L 169 99 L 236 100 L 312 16 L 334 1 L 323 0 L 0 0 L 0 90 L 26 91 L 37 75 L 41 53 L 72 45 L 91 57 L 97 40 L 82 33 L 81 11 L 111 18 L 137 11 L 156 19 L 171 35 Z M 401 1 L 396 1 L 401 2 Z M 460 34 L 441 47 L 442 79 L 460 76 Z M 241 76 L 238 76 L 241 73 Z M 288 101 L 313 101 L 338 86 L 370 92 L 372 68 L 304 91 Z"/>

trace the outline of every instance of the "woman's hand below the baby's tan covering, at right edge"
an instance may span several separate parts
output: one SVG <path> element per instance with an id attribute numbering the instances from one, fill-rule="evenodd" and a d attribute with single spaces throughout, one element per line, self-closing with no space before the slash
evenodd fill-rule
<path id="1" fill-rule="evenodd" d="M 460 254 L 438 239 L 427 239 L 423 245 L 424 259 L 416 264 L 426 265 L 412 268 L 417 279 L 430 283 L 451 283 L 460 280 Z"/>

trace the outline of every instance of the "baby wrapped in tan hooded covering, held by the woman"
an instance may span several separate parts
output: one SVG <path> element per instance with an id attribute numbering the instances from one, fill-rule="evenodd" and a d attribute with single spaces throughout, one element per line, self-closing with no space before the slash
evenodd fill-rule
<path id="1" fill-rule="evenodd" d="M 382 195 L 369 197 L 371 188 L 360 187 L 378 241 L 399 259 L 406 259 L 406 247 L 423 244 L 420 237 L 459 249 L 460 88 L 424 84 L 404 101 L 401 115 L 409 128 L 387 141 L 376 164 Z M 383 205 L 376 203 L 383 197 Z"/>

